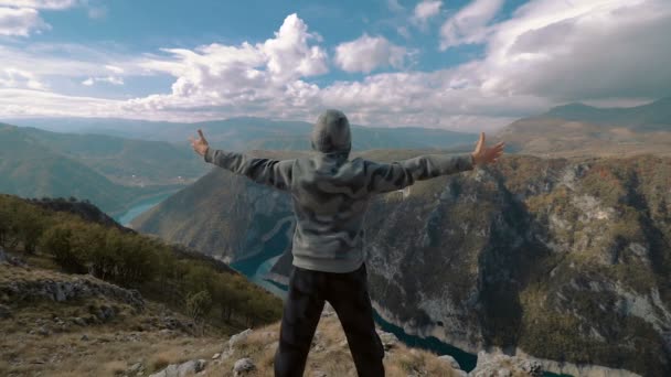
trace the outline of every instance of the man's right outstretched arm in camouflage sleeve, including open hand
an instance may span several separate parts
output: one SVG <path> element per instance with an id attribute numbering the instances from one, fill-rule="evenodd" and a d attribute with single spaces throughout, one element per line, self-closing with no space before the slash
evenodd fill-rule
<path id="1" fill-rule="evenodd" d="M 503 153 L 503 142 L 499 142 L 492 148 L 487 148 L 484 132 L 480 132 L 480 139 L 471 153 L 424 154 L 392 163 L 365 161 L 368 191 L 385 193 L 409 186 L 415 181 L 472 170 L 477 165 L 496 162 Z"/>

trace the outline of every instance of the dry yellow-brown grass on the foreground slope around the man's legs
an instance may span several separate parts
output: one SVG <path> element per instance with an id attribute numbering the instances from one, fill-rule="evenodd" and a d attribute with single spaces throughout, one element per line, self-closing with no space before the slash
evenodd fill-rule
<path id="1" fill-rule="evenodd" d="M 34 268 L 0 268 L 0 287 L 42 279 L 67 281 L 74 277 Z M 123 376 L 137 363 L 143 365 L 143 375 L 148 376 L 170 364 L 199 358 L 207 362 L 205 376 L 219 377 L 232 376 L 234 363 L 243 357 L 251 357 L 256 365 L 249 377 L 274 375 L 279 323 L 255 328 L 235 346 L 230 357 L 213 360 L 214 354 L 224 351 L 227 336 L 210 327 L 206 336 L 193 337 L 148 325 L 164 312 L 164 306 L 158 303 L 146 302 L 146 309 L 137 313 L 124 303 L 99 297 L 77 302 L 31 300 L 20 304 L 4 299 L 0 297 L 0 301 L 11 308 L 12 317 L 0 320 L 0 376 L 3 377 Z M 111 321 L 86 326 L 72 322 L 73 317 L 89 316 L 92 310 L 102 304 L 119 309 Z M 170 315 L 187 321 L 177 313 Z M 58 321 L 67 325 L 60 327 Z M 42 326 L 49 330 L 49 334 L 40 334 Z M 305 375 L 311 376 L 320 370 L 327 376 L 356 376 L 338 316 L 322 317 L 317 331 L 316 346 L 308 355 Z M 401 343 L 388 352 L 384 364 L 390 377 L 406 377 L 408 374 L 457 376 L 436 355 L 409 349 Z"/>

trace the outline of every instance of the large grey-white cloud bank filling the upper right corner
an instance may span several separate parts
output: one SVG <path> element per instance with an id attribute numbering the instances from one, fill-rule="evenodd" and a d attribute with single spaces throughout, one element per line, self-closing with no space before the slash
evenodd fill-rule
<path id="1" fill-rule="evenodd" d="M 565 101 L 668 96 L 668 35 L 665 0 L 533 1 L 492 30 L 482 88 Z"/>

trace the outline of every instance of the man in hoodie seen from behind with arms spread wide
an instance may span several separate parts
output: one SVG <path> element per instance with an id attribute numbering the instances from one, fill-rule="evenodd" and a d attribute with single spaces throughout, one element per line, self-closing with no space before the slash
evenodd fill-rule
<path id="1" fill-rule="evenodd" d="M 291 194 L 297 219 L 294 269 L 275 355 L 275 376 L 302 376 L 324 301 L 340 319 L 359 376 L 384 376 L 384 348 L 373 322 L 363 251 L 369 200 L 415 181 L 496 162 L 503 143 L 487 148 L 481 132 L 470 154 L 426 154 L 392 163 L 349 160 L 348 118 L 341 111 L 327 110 L 312 129 L 311 143 L 317 153 L 278 161 L 213 150 L 198 131 L 200 139 L 189 139 L 206 162 Z"/>

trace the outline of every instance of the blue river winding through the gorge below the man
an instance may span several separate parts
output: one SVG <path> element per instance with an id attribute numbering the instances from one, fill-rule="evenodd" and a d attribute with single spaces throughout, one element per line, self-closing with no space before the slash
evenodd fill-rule
<path id="1" fill-rule="evenodd" d="M 149 198 L 147 201 L 142 201 L 115 219 L 121 225 L 126 226 L 134 218 L 158 205 L 170 195 L 171 194 L 164 194 L 156 196 L 153 198 Z M 280 257 L 281 251 L 278 252 L 277 250 L 285 249 L 287 240 L 284 239 L 283 235 L 286 235 L 285 227 L 287 226 L 290 226 L 289 222 L 283 225 L 280 231 L 277 231 L 273 238 L 265 243 L 262 252 L 257 254 L 252 258 L 231 263 L 232 268 L 246 276 L 251 281 L 265 288 L 266 290 L 268 290 L 273 294 L 276 294 L 283 300 L 286 299 L 287 287 L 266 280 L 264 279 L 264 277 L 270 270 L 275 261 Z M 457 363 L 459 363 L 459 366 L 466 371 L 470 371 L 476 367 L 476 363 L 478 360 L 477 355 L 469 354 L 433 336 L 424 338 L 415 335 L 409 335 L 405 333 L 402 327 L 398 327 L 392 323 L 384 321 L 377 313 L 374 313 L 374 317 L 375 322 L 383 331 L 393 333 L 401 342 L 405 343 L 411 347 L 427 349 L 438 355 L 450 355 L 457 360 Z M 545 371 L 543 376 L 571 377 L 566 375 L 555 375 L 548 371 Z"/>

